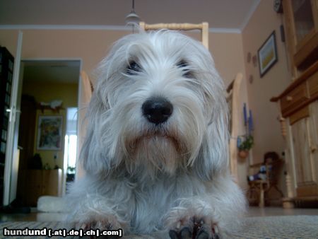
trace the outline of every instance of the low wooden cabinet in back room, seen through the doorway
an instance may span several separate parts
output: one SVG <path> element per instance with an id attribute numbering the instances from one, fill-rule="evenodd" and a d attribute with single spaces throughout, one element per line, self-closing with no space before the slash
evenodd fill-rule
<path id="1" fill-rule="evenodd" d="M 56 170 L 24 170 L 25 189 L 23 204 L 37 206 L 41 196 L 61 196 L 62 171 Z"/>

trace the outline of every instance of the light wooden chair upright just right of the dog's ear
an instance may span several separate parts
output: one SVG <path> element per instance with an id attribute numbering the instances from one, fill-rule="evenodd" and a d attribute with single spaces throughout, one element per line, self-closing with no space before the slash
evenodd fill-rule
<path id="1" fill-rule="evenodd" d="M 240 125 L 240 88 L 242 84 L 243 75 L 238 73 L 235 79 L 230 83 L 227 88 L 228 97 L 226 98 L 228 102 L 228 107 L 230 109 L 230 170 L 238 180 L 237 175 L 237 136 L 238 128 Z"/>

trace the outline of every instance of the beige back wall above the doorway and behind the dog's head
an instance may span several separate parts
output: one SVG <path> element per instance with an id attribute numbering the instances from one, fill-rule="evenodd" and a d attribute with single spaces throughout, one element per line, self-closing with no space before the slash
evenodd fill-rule
<path id="1" fill-rule="evenodd" d="M 112 43 L 128 34 L 122 30 L 22 30 L 22 59 L 83 59 L 88 74 L 105 57 Z M 190 33 L 196 39 L 199 34 Z M 0 30 L 0 45 L 15 55 L 18 30 Z M 244 71 L 242 36 L 238 33 L 210 33 L 209 47 L 225 84 Z"/>

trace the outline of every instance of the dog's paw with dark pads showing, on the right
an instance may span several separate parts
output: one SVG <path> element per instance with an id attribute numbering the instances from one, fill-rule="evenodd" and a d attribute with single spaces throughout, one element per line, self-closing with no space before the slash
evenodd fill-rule
<path id="1" fill-rule="evenodd" d="M 169 231 L 170 239 L 219 239 L 218 228 L 203 219 L 191 218 L 187 223 L 179 221 L 176 228 Z"/>

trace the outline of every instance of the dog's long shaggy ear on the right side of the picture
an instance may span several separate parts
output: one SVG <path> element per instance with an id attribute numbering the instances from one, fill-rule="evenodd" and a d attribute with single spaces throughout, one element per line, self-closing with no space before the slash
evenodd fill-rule
<path id="1" fill-rule="evenodd" d="M 225 99 L 223 80 L 212 68 L 205 84 L 206 131 L 201 148 L 194 161 L 194 171 L 202 180 L 211 180 L 213 175 L 228 168 L 228 104 Z"/>

